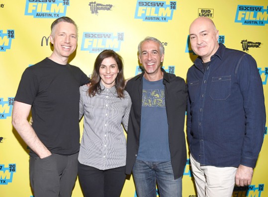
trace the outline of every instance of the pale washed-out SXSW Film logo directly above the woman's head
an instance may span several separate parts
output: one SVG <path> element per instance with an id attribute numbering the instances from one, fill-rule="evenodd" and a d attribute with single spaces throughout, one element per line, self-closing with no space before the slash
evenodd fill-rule
<path id="1" fill-rule="evenodd" d="M 115 35 L 105 32 L 84 32 L 81 51 L 89 51 L 89 53 L 99 53 L 105 49 L 120 51 L 122 41 L 124 41 L 122 32 Z"/>

